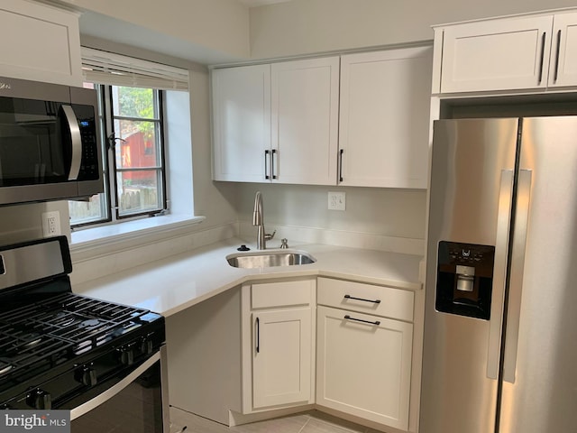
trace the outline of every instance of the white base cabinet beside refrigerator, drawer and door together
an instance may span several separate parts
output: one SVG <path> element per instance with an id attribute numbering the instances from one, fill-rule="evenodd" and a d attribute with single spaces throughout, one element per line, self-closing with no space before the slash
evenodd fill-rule
<path id="1" fill-rule="evenodd" d="M 413 296 L 318 279 L 318 406 L 408 430 Z"/>

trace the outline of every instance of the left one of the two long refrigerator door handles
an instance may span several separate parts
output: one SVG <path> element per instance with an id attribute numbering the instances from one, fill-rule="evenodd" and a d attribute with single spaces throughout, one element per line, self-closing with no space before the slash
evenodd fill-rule
<path id="1" fill-rule="evenodd" d="M 513 170 L 501 170 L 495 240 L 495 267 L 493 269 L 492 301 L 490 306 L 489 348 L 487 352 L 487 377 L 495 380 L 499 377 L 503 304 L 507 278 L 508 233 L 513 204 L 513 179 Z"/>

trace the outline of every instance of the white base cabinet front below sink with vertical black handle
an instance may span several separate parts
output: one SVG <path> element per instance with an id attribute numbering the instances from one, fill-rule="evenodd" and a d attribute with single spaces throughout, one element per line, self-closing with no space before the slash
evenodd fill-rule
<path id="1" fill-rule="evenodd" d="M 243 414 L 314 402 L 316 280 L 243 286 Z"/>

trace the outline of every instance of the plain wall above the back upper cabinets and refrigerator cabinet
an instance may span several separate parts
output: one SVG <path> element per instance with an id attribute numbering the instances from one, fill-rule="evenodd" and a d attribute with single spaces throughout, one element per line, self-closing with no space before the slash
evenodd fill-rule
<path id="1" fill-rule="evenodd" d="M 574 0 L 292 0 L 251 9 L 251 57 L 426 41 L 434 24 L 571 6 Z"/>

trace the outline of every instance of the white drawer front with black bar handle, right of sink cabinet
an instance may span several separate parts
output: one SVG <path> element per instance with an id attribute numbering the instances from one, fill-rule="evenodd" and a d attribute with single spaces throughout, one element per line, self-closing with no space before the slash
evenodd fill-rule
<path id="1" fill-rule="evenodd" d="M 412 291 L 328 278 L 319 278 L 317 284 L 318 304 L 413 321 Z"/>

